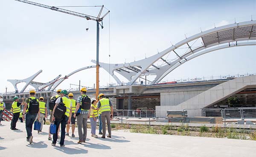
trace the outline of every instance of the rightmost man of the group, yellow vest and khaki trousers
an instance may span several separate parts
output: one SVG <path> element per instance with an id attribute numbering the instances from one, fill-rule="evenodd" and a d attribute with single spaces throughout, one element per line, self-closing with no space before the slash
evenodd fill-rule
<path id="1" fill-rule="evenodd" d="M 111 125 L 110 120 L 113 117 L 113 106 L 109 99 L 105 98 L 104 94 L 99 94 L 98 96 L 98 108 L 97 110 L 101 111 L 102 118 L 102 138 L 105 138 L 106 135 L 106 119 L 108 124 L 108 137 L 111 138 Z"/>

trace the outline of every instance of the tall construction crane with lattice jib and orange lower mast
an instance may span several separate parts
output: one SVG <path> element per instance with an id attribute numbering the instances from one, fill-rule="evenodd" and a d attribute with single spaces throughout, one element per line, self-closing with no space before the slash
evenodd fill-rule
<path id="1" fill-rule="evenodd" d="M 40 7 L 46 8 L 46 9 L 59 11 L 59 12 L 74 15 L 74 16 L 77 16 L 77 17 L 82 17 L 82 18 L 85 18 L 86 20 L 96 21 L 96 23 L 97 23 L 97 29 L 96 29 L 97 30 L 97 35 L 96 35 L 96 37 L 97 37 L 97 41 L 96 41 L 96 100 L 97 100 L 97 96 L 99 95 L 99 25 L 101 25 L 101 28 L 103 29 L 102 20 L 103 20 L 104 17 L 106 17 L 108 15 L 108 13 L 110 11 L 108 10 L 102 17 L 100 17 L 101 14 L 102 14 L 102 11 L 104 9 L 104 5 L 102 5 L 98 16 L 94 17 L 94 16 L 91 16 L 91 15 L 82 14 L 82 13 L 75 12 L 75 11 L 70 11 L 70 10 L 67 10 L 67 9 L 61 9 L 61 8 L 58 8 L 58 7 L 55 7 L 55 6 L 47 6 L 47 5 L 44 5 L 44 4 L 31 2 L 31 1 L 28 1 L 28 0 L 16 0 L 16 1 L 31 4 L 31 5 L 34 5 L 34 6 L 40 6 Z M 101 22 L 101 24 L 100 24 L 100 22 Z"/>

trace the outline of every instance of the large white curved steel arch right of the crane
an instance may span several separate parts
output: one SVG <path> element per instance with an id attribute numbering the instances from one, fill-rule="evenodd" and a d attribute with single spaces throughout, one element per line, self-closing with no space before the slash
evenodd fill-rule
<path id="1" fill-rule="evenodd" d="M 196 49 L 192 49 L 189 46 L 189 42 L 195 41 L 200 39 L 203 41 L 203 45 Z M 145 74 L 155 74 L 157 75 L 156 78 L 153 80 L 152 84 L 159 82 L 163 77 L 165 77 L 169 72 L 173 69 L 177 68 L 177 63 L 180 65 L 188 61 L 191 55 L 195 55 L 196 53 L 201 53 L 201 51 L 207 51 L 208 48 L 211 47 L 218 47 L 212 49 L 212 51 L 218 49 L 224 49 L 223 47 L 234 47 L 234 46 L 247 46 L 248 44 L 241 44 L 237 43 L 237 41 L 247 41 L 247 40 L 256 40 L 256 20 L 245 21 L 241 23 L 233 23 L 221 27 L 217 27 L 214 29 L 209 29 L 207 31 L 203 31 L 201 33 L 195 34 L 191 37 L 188 37 L 175 45 L 165 49 L 151 57 L 145 58 L 143 60 L 134 61 L 131 63 L 124 63 L 124 64 L 107 64 L 107 63 L 100 63 L 103 69 L 108 71 L 112 76 L 113 72 L 117 72 L 124 76 L 126 79 L 129 80 L 128 84 L 134 84 L 135 81 L 142 75 Z M 233 45 L 232 42 L 236 42 Z M 222 46 L 222 44 L 227 44 L 228 46 Z M 189 52 L 186 52 L 183 55 L 178 55 L 175 52 L 175 49 L 180 48 L 181 46 L 187 45 L 190 49 Z M 250 45 L 250 44 L 249 44 Z M 255 45 L 255 44 L 252 44 Z M 162 57 L 166 54 L 174 51 L 177 54 L 177 59 L 168 62 L 164 60 Z M 200 55 L 205 54 L 202 52 Z M 198 55 L 199 56 L 199 55 Z M 198 57 L 194 56 L 194 57 Z M 192 57 L 192 58 L 194 58 Z M 192 59 L 190 58 L 190 60 Z M 162 60 L 166 63 L 164 66 L 157 67 L 154 65 L 158 60 Z M 94 62 L 94 60 L 92 60 Z M 149 69 L 150 67 L 154 67 L 155 69 Z M 115 78 L 115 77 L 114 77 Z M 115 78 L 115 80 L 119 83 L 120 80 Z M 119 81 L 118 81 L 119 80 Z"/>

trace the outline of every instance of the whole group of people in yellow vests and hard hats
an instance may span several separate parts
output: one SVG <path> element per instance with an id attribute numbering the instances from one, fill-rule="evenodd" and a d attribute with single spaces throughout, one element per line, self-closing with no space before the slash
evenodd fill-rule
<path id="1" fill-rule="evenodd" d="M 79 141 L 77 143 L 85 143 L 87 137 L 87 120 L 90 118 L 91 125 L 91 136 L 97 138 L 96 135 L 96 124 L 99 119 L 99 134 L 102 134 L 102 138 L 106 136 L 106 120 L 108 125 L 108 137 L 111 138 L 111 125 L 110 120 L 113 117 L 113 106 L 111 101 L 108 98 L 105 98 L 104 94 L 99 94 L 97 97 L 90 99 L 86 95 L 87 89 L 85 87 L 80 90 L 81 95 L 78 97 L 76 101 L 73 97 L 73 93 L 67 92 L 67 90 L 57 90 L 57 94 L 51 97 L 51 100 L 54 100 L 55 106 L 52 110 L 50 110 L 50 123 L 56 125 L 56 131 L 51 137 L 50 127 L 49 127 L 49 137 L 48 140 L 52 140 L 52 146 L 55 146 L 57 143 L 57 139 L 60 139 L 60 146 L 64 147 L 64 139 L 65 135 L 69 136 L 70 123 L 72 130 L 72 137 L 75 137 L 75 123 L 77 121 Z M 44 119 L 47 118 L 47 104 L 44 103 L 44 98 L 40 97 L 39 100 L 35 98 L 35 90 L 29 91 L 29 98 L 24 101 L 22 97 L 22 102 L 19 102 L 19 97 L 15 96 L 13 98 L 14 102 L 12 103 L 12 113 L 13 118 L 11 122 L 11 129 L 18 130 L 16 128 L 17 120 L 22 116 L 22 120 L 25 120 L 26 123 L 26 132 L 27 137 L 26 140 L 31 144 L 33 143 L 32 136 L 32 125 L 35 120 L 38 120 L 41 123 L 41 128 L 38 130 L 38 133 L 42 131 L 42 127 L 44 124 Z M 87 103 L 86 102 L 90 102 Z M 0 98 L 0 114 L 3 111 L 3 100 Z M 23 111 L 21 110 L 21 106 L 24 105 Z M 55 114 L 59 113 L 58 106 L 64 105 L 66 111 L 61 118 L 57 118 Z M 85 105 L 89 105 L 89 108 L 83 109 Z M 55 113 L 56 112 L 56 113 Z M 67 126 L 67 130 L 66 130 Z M 61 136 L 58 136 L 61 130 Z"/>

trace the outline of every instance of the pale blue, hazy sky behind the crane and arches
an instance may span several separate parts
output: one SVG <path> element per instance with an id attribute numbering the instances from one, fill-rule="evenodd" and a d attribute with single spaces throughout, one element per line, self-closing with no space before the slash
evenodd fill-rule
<path id="1" fill-rule="evenodd" d="M 111 12 L 100 29 L 99 60 L 128 63 L 163 51 L 186 37 L 215 26 L 256 20 L 256 0 L 33 0 L 49 6 L 99 6 Z M 97 16 L 99 7 L 63 8 Z M 106 12 L 106 10 L 104 10 Z M 96 59 L 96 22 L 15 0 L 0 1 L 0 93 L 15 91 L 7 79 L 24 79 L 39 70 L 36 82 L 65 76 Z M 86 31 L 86 28 L 89 28 Z M 201 28 L 201 29 L 200 29 Z M 178 67 L 163 80 L 256 73 L 256 46 L 213 51 Z M 109 54 L 111 57 L 109 58 Z M 93 87 L 95 69 L 74 74 L 70 84 Z M 123 79 L 122 81 L 127 82 Z M 115 83 L 100 69 L 100 86 Z M 18 85 L 22 89 L 24 83 Z M 27 89 L 32 88 L 29 86 Z"/>

